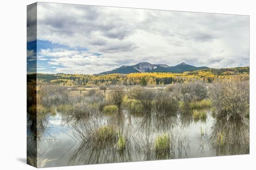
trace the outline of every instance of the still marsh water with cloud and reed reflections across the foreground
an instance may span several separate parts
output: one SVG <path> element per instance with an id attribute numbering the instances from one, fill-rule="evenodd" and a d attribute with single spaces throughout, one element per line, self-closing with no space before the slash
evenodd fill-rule
<path id="1" fill-rule="evenodd" d="M 127 140 L 120 151 L 116 142 L 104 145 L 87 139 L 94 128 L 115 126 Z M 42 167 L 120 163 L 159 159 L 211 157 L 249 153 L 249 122 L 216 119 L 207 110 L 204 120 L 193 119 L 192 110 L 175 115 L 98 114 L 88 119 L 67 121 L 65 114 L 49 114 L 38 126 L 37 162 Z M 158 135 L 168 133 L 170 149 L 157 154 Z"/>

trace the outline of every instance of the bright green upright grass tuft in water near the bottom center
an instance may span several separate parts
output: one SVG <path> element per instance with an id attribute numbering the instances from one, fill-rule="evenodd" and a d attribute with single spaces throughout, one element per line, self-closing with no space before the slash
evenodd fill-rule
<path id="1" fill-rule="evenodd" d="M 170 149 L 170 137 L 167 133 L 157 136 L 155 139 L 155 150 L 162 152 Z"/>

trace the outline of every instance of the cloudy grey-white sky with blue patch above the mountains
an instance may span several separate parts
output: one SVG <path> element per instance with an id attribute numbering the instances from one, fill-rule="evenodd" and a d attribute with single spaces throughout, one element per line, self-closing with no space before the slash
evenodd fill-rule
<path id="1" fill-rule="evenodd" d="M 243 15 L 38 3 L 36 31 L 27 56 L 42 73 L 97 74 L 140 62 L 249 66 Z"/>

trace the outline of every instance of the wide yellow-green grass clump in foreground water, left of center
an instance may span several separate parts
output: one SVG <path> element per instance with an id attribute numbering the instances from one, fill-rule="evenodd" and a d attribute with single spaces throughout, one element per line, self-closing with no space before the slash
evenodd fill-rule
<path id="1" fill-rule="evenodd" d="M 117 132 L 113 126 L 101 126 L 94 132 L 96 142 L 113 141 L 117 139 Z"/>

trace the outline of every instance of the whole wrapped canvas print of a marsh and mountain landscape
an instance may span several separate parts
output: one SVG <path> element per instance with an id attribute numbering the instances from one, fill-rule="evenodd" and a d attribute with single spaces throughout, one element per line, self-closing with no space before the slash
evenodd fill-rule
<path id="1" fill-rule="evenodd" d="M 27 6 L 27 164 L 240 154 L 249 16 Z"/>

